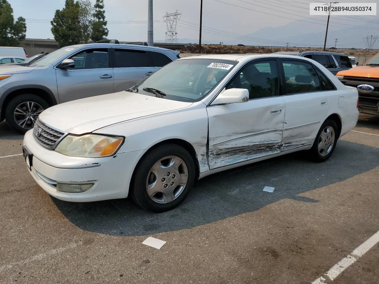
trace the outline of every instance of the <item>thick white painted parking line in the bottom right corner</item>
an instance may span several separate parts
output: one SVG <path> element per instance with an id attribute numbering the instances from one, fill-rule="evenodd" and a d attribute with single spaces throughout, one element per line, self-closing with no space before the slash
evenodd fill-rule
<path id="1" fill-rule="evenodd" d="M 366 240 L 362 245 L 357 247 L 351 254 L 341 259 L 336 265 L 329 269 L 324 275 L 333 281 L 338 275 L 340 275 L 346 268 L 356 262 L 360 257 L 370 250 L 374 245 L 379 242 L 379 231 L 377 231 L 373 236 Z M 319 277 L 312 284 L 323 284 L 326 283 L 326 278 Z"/>

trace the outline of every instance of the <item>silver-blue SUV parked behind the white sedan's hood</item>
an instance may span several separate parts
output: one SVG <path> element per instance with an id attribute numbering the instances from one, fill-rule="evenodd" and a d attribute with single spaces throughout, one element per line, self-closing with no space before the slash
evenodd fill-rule
<path id="1" fill-rule="evenodd" d="M 179 53 L 135 44 L 81 44 L 53 51 L 29 66 L 0 69 L 0 121 L 25 133 L 44 109 L 129 89 Z"/>

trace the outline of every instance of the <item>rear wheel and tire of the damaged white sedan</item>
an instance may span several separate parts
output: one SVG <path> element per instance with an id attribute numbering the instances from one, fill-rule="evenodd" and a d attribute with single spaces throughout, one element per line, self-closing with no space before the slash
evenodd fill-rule
<path id="1" fill-rule="evenodd" d="M 310 158 L 315 162 L 324 162 L 329 159 L 334 152 L 338 135 L 337 123 L 332 119 L 325 120 L 309 150 Z"/>

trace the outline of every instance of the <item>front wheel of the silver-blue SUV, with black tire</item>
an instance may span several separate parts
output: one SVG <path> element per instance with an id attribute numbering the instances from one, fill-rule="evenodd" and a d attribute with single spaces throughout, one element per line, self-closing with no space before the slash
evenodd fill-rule
<path id="1" fill-rule="evenodd" d="M 13 130 L 25 134 L 34 127 L 34 122 L 39 114 L 47 108 L 49 108 L 49 104 L 37 95 L 17 95 L 6 106 L 5 121 Z"/>

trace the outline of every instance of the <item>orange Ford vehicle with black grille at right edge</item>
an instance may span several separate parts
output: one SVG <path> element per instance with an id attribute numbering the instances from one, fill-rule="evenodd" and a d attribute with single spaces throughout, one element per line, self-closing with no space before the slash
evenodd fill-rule
<path id="1" fill-rule="evenodd" d="M 338 72 L 336 77 L 358 89 L 359 112 L 379 115 L 379 53 L 362 66 Z"/>

